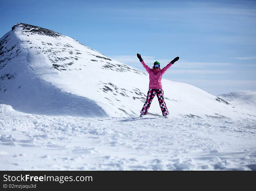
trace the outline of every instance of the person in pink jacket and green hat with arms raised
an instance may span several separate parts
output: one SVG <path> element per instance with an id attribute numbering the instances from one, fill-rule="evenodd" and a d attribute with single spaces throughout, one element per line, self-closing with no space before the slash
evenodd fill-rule
<path id="1" fill-rule="evenodd" d="M 163 99 L 163 89 L 161 80 L 163 73 L 166 72 L 166 70 L 170 68 L 177 60 L 179 60 L 179 57 L 174 58 L 163 69 L 160 69 L 160 63 L 158 61 L 154 62 L 154 66 L 151 69 L 148 65 L 145 64 L 139 53 L 137 53 L 137 57 L 140 60 L 143 67 L 147 70 L 147 73 L 149 74 L 149 90 L 147 92 L 147 98 L 141 110 L 140 117 L 143 117 L 143 115 L 147 115 L 147 111 L 150 107 L 150 104 L 154 96 L 157 95 L 158 102 L 163 113 L 163 117 L 168 118 L 167 115 L 169 115 L 169 112 Z"/>

